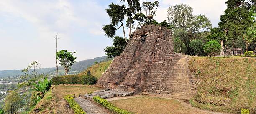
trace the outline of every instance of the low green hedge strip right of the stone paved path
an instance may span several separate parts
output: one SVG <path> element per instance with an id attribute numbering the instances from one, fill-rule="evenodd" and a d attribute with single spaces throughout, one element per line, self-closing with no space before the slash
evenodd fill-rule
<path id="1" fill-rule="evenodd" d="M 108 102 L 105 99 L 100 98 L 99 96 L 93 97 L 93 101 L 97 102 L 98 104 L 102 105 L 103 107 L 107 108 L 108 110 L 116 114 L 131 114 L 127 110 L 120 109 L 119 107 L 115 107 L 114 104 Z"/>

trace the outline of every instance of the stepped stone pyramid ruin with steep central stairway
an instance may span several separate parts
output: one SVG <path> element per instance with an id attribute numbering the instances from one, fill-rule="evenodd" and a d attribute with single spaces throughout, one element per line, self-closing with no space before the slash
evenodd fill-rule
<path id="1" fill-rule="evenodd" d="M 144 25 L 130 37 L 124 52 L 115 57 L 97 86 L 178 99 L 195 94 L 189 57 L 174 54 L 171 30 Z"/>

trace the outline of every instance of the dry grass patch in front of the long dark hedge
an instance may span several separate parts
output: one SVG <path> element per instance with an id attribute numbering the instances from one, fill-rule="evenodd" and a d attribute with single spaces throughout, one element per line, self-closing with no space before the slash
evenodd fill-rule
<path id="1" fill-rule="evenodd" d="M 56 96 L 57 100 L 62 99 L 64 96 L 68 94 L 72 94 L 75 96 L 79 96 L 79 94 L 87 94 L 100 88 L 94 85 L 80 85 L 80 84 L 61 84 L 61 85 L 54 85 L 54 95 Z"/>

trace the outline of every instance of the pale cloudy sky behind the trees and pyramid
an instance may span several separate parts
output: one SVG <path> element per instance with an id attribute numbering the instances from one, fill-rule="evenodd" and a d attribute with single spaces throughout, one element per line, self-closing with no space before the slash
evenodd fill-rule
<path id="1" fill-rule="evenodd" d="M 140 0 L 140 2 L 154 0 Z M 156 21 L 166 20 L 168 7 L 184 3 L 193 15 L 205 15 L 218 27 L 226 0 L 159 0 Z M 3 0 L 0 2 L 0 70 L 23 69 L 32 61 L 56 66 L 58 50 L 76 52 L 77 61 L 105 56 L 112 39 L 102 26 L 110 23 L 105 9 L 119 0 Z M 128 29 L 126 30 L 128 34 Z M 119 36 L 123 36 L 120 30 Z M 128 35 L 127 35 L 128 36 Z"/>

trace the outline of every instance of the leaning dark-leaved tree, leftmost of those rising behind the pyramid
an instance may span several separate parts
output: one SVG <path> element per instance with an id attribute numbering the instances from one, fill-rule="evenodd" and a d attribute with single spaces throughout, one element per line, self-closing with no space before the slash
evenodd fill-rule
<path id="1" fill-rule="evenodd" d="M 115 31 L 118 30 L 120 27 L 122 27 L 123 28 L 123 36 L 124 36 L 125 42 L 127 43 L 127 39 L 125 37 L 125 28 L 124 28 L 124 24 L 123 24 L 126 7 L 124 5 L 118 5 L 118 4 L 113 4 L 113 3 L 111 3 L 108 6 L 109 6 L 109 8 L 106 9 L 106 11 L 108 13 L 108 16 L 111 18 L 111 24 L 105 25 L 103 27 L 103 30 L 104 30 L 106 36 L 113 38 L 115 35 Z M 120 26 L 118 28 L 115 28 L 116 26 L 118 26 L 119 23 L 121 23 Z"/>

